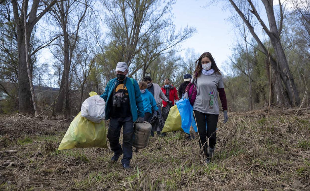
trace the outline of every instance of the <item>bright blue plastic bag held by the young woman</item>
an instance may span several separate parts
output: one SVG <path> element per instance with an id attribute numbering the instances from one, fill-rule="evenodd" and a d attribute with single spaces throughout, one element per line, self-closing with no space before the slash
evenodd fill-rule
<path id="1" fill-rule="evenodd" d="M 192 125 L 195 132 L 197 132 L 196 123 L 193 120 L 193 106 L 190 104 L 189 99 L 180 99 L 175 104 L 178 107 L 179 113 L 181 115 L 181 127 L 183 131 L 189 134 L 189 130 Z"/>

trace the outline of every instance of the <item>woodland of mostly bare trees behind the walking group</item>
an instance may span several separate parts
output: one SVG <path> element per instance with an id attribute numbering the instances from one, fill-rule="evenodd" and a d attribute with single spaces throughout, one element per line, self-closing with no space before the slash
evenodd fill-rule
<path id="1" fill-rule="evenodd" d="M 181 56 L 181 43 L 196 30 L 175 29 L 174 2 L 2 0 L 0 89 L 6 98 L 1 111 L 75 115 L 90 91 L 104 92 L 119 61 L 128 63 L 129 76 L 138 81 L 150 75 L 163 85 L 169 77 L 179 87 L 202 52 L 186 49 Z M 216 1 L 206 6 L 210 3 Z M 233 13 L 228 22 L 239 36 L 222 69 L 230 110 L 307 107 L 310 1 L 221 3 Z M 52 66 L 38 60 L 47 48 Z"/>

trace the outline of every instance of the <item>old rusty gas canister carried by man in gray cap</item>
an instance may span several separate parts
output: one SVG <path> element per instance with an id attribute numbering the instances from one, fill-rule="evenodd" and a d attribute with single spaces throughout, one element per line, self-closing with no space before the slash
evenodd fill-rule
<path id="1" fill-rule="evenodd" d="M 152 125 L 147 121 L 143 123 L 135 123 L 134 127 L 134 141 L 133 146 L 136 148 L 135 152 L 143 149 L 148 145 L 148 138 L 152 130 Z"/>

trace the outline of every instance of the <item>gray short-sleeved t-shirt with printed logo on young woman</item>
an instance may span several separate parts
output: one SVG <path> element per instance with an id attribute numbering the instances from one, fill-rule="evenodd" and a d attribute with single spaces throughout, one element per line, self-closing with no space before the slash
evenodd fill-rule
<path id="1" fill-rule="evenodd" d="M 193 109 L 202 113 L 219 114 L 218 90 L 224 88 L 223 76 L 213 73 L 209 76 L 201 74 L 196 82 L 192 78 L 192 83 L 196 84 L 197 96 Z"/>

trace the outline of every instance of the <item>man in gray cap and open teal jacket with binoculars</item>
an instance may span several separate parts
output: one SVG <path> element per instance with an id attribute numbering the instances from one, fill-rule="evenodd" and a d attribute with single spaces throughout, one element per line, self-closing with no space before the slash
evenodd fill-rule
<path id="1" fill-rule="evenodd" d="M 123 155 L 122 165 L 130 169 L 132 158 L 132 143 L 134 134 L 134 121 L 144 121 L 143 102 L 138 82 L 126 77 L 128 67 L 125 62 L 116 65 L 116 78 L 108 82 L 104 93 L 100 96 L 106 102 L 105 120 L 110 119 L 108 140 L 114 155 L 112 162 L 117 162 Z M 119 143 L 121 128 L 123 127 L 123 148 Z"/>

